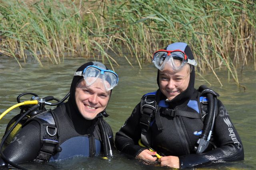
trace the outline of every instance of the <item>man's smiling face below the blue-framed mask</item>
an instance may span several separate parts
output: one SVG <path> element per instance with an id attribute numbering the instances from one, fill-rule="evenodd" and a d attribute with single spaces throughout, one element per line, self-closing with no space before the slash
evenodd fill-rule
<path id="1" fill-rule="evenodd" d="M 97 80 L 88 87 L 82 79 L 76 86 L 75 98 L 81 115 L 87 120 L 92 120 L 106 108 L 110 90 L 106 91 L 104 84 Z"/>

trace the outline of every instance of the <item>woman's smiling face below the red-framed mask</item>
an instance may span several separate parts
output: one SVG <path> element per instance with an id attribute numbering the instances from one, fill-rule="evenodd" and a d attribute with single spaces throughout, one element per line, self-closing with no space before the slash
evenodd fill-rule
<path id="1" fill-rule="evenodd" d="M 168 100 L 188 88 L 190 80 L 190 66 L 187 64 L 179 72 L 172 70 L 159 71 L 159 87 Z"/>

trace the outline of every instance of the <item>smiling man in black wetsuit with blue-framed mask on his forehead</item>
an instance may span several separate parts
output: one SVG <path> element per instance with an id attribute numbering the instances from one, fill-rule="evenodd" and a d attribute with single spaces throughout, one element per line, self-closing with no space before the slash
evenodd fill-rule
<path id="1" fill-rule="evenodd" d="M 103 120 L 118 75 L 100 62 L 87 62 L 73 77 L 68 102 L 32 116 L 3 151 L 18 164 L 74 156 L 112 155 L 113 132 Z M 1 156 L 2 157 L 2 156 Z M 3 158 L 3 157 L 2 157 Z M 0 158 L 0 165 L 7 165 Z"/>

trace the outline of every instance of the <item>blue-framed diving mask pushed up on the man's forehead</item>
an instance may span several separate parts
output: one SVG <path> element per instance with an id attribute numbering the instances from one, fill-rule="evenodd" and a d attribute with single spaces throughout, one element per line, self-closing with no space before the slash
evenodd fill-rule
<path id="1" fill-rule="evenodd" d="M 118 75 L 115 72 L 97 66 L 87 66 L 83 71 L 75 72 L 74 76 L 83 76 L 87 86 L 91 86 L 100 78 L 107 91 L 118 84 Z"/>

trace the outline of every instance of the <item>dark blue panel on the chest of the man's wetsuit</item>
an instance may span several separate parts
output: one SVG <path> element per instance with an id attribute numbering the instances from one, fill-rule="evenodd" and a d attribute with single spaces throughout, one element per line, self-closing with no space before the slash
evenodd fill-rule
<path id="1" fill-rule="evenodd" d="M 96 154 L 100 154 L 100 141 L 95 139 Z M 60 147 L 62 148 L 61 152 L 58 152 L 55 155 L 52 155 L 50 161 L 62 160 L 67 158 L 72 158 L 74 156 L 89 156 L 90 146 L 89 138 L 86 136 L 76 136 L 70 138 L 63 142 Z"/>

